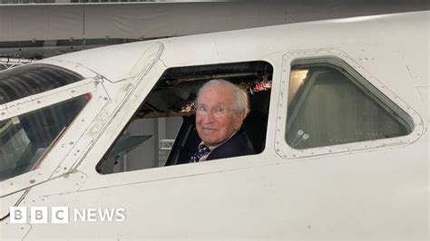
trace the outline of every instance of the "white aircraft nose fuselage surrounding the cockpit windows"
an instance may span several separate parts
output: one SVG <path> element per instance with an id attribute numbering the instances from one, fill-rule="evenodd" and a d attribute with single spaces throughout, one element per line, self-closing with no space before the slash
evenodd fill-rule
<path id="1" fill-rule="evenodd" d="M 201 34 L 41 61 L 81 73 L 86 79 L 70 90 L 85 82 L 91 85 L 91 100 L 40 169 L 0 182 L 0 197 L 29 188 L 20 207 L 123 208 L 125 220 L 73 221 L 71 211 L 66 225 L 23 226 L 6 217 L 0 221 L 0 238 L 428 239 L 428 103 L 425 91 L 417 90 L 428 85 L 428 55 L 416 49 L 428 43 L 429 16 L 390 14 Z M 358 72 L 411 116 L 414 129 L 383 140 L 312 149 L 288 146 L 284 133 L 291 63 L 324 56 Z M 249 61 L 273 67 L 261 153 L 196 165 L 97 172 L 97 163 L 163 72 Z M 62 91 L 42 95 L 53 101 L 54 93 Z M 58 101 L 67 94 L 72 95 L 62 94 Z M 0 120 L 18 112 L 0 114 Z"/>

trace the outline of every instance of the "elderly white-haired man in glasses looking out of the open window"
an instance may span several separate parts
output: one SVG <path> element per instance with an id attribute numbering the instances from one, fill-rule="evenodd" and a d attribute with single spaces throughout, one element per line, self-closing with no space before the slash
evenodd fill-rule
<path id="1" fill-rule="evenodd" d="M 240 131 L 249 113 L 248 93 L 231 82 L 206 82 L 197 95 L 196 127 L 200 144 L 189 162 L 254 154 L 245 132 Z"/>

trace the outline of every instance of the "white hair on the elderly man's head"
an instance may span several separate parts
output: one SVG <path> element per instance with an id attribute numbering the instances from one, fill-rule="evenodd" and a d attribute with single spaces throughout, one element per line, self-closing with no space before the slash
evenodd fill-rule
<path id="1" fill-rule="evenodd" d="M 236 107 L 235 110 L 239 114 L 244 114 L 244 117 L 246 117 L 249 114 L 249 98 L 248 93 L 237 86 L 236 84 L 232 82 L 228 82 L 226 80 L 217 79 L 217 80 L 211 80 L 209 82 L 206 82 L 201 86 L 199 92 L 197 93 L 197 101 L 199 102 L 200 93 L 203 92 L 205 89 L 211 86 L 216 85 L 222 85 L 229 87 L 231 90 L 233 90 L 235 97 L 236 97 Z"/>

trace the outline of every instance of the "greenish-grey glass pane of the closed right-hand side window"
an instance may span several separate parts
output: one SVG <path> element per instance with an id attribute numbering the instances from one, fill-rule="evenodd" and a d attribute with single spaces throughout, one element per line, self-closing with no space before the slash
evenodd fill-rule
<path id="1" fill-rule="evenodd" d="M 345 70 L 293 65 L 288 90 L 289 146 L 308 149 L 398 137 L 410 131 L 396 111 Z"/>

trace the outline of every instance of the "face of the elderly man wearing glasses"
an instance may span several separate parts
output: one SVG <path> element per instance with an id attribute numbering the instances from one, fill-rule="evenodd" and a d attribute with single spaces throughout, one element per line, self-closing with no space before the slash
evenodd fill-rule
<path id="1" fill-rule="evenodd" d="M 236 96 L 230 87 L 213 85 L 200 92 L 196 126 L 200 139 L 209 146 L 227 140 L 244 119 L 235 108 Z"/>

